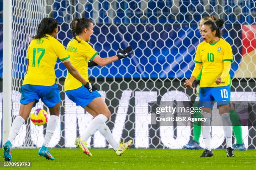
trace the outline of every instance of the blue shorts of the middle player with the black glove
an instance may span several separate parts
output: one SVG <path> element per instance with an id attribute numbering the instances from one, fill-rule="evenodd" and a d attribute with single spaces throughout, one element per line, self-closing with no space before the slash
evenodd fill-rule
<path id="1" fill-rule="evenodd" d="M 87 106 L 93 99 L 101 97 L 100 93 L 97 90 L 89 92 L 89 90 L 84 86 L 74 90 L 67 90 L 65 92 L 69 99 L 72 100 L 72 102 L 76 103 L 77 106 L 81 106 L 83 108 Z"/>

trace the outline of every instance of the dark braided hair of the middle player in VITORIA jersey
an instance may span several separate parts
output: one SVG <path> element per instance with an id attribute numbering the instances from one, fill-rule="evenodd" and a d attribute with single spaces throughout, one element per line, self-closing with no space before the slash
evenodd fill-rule
<path id="1" fill-rule="evenodd" d="M 72 29 L 72 35 L 74 37 L 75 40 L 77 40 L 77 35 L 81 34 L 84 30 L 84 28 L 89 29 L 90 23 L 92 23 L 92 21 L 88 18 L 74 18 L 74 20 L 72 20 L 70 27 Z M 77 40 L 79 43 L 81 41 Z"/>

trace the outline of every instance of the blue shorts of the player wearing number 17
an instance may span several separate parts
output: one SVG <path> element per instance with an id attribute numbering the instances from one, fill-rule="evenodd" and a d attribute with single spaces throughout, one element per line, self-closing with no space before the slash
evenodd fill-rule
<path id="1" fill-rule="evenodd" d="M 44 102 L 47 107 L 54 107 L 61 101 L 59 94 L 59 87 L 55 83 L 51 86 L 45 85 L 22 85 L 20 104 L 26 105 L 30 102 L 35 102 L 33 107 L 39 99 Z"/>

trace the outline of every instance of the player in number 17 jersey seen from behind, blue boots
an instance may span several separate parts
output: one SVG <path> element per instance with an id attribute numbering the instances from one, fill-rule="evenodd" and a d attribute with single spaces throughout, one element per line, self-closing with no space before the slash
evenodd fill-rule
<path id="1" fill-rule="evenodd" d="M 56 129 L 60 112 L 60 93 L 56 84 L 54 70 L 57 57 L 59 57 L 70 74 L 78 82 L 89 86 L 89 82 L 84 80 L 79 72 L 71 65 L 65 47 L 55 39 L 57 32 L 57 21 L 54 18 L 44 18 L 38 25 L 36 36 L 33 37 L 33 40 L 28 46 L 26 56 L 28 67 L 23 85 L 21 86 L 20 113 L 13 120 L 8 141 L 3 145 L 5 161 L 12 161 L 12 142 L 18 135 L 20 127 L 28 119 L 32 107 L 36 105 L 40 98 L 49 107 L 50 117 L 46 127 L 44 143 L 38 151 L 38 155 L 54 160 L 47 147 Z"/>

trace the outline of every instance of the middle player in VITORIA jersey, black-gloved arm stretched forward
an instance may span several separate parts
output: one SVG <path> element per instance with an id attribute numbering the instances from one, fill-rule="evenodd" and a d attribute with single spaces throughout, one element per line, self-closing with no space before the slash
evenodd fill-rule
<path id="1" fill-rule="evenodd" d="M 87 82 L 89 82 L 88 60 L 92 60 L 102 67 L 132 54 L 132 47 L 129 46 L 125 48 L 125 50 L 120 50 L 120 53 L 113 57 L 101 58 L 98 52 L 88 43 L 93 34 L 93 26 L 92 21 L 88 18 L 75 18 L 71 23 L 74 39 L 67 45 L 67 51 L 70 55 L 72 65 L 77 68 Z M 110 129 L 105 124 L 110 117 L 110 110 L 108 110 L 108 106 L 99 92 L 97 92 L 97 88 L 94 85 L 91 85 L 91 90 L 88 90 L 68 72 L 64 83 L 64 90 L 70 100 L 76 103 L 76 105 L 83 107 L 84 110 L 87 110 L 94 117 L 87 125 L 84 134 L 75 140 L 76 145 L 81 148 L 86 155 L 92 156 L 92 153 L 90 153 L 87 148 L 86 141 L 97 130 L 99 130 L 108 143 L 110 143 L 118 156 L 121 156 L 123 152 L 131 146 L 132 140 L 124 144 L 120 143 L 120 145 L 114 140 Z"/>

